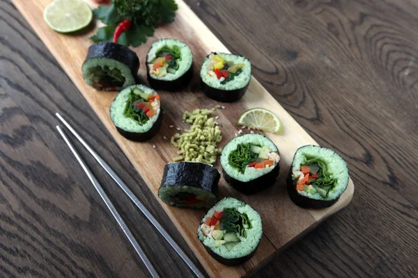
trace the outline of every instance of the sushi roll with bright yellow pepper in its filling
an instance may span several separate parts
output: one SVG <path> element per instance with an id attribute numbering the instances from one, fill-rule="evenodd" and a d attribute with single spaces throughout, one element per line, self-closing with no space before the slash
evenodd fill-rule
<path id="1" fill-rule="evenodd" d="M 242 56 L 213 52 L 201 67 L 202 90 L 211 99 L 232 102 L 247 91 L 251 63 Z"/>

